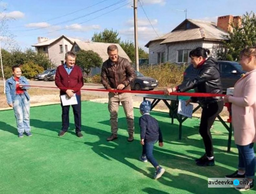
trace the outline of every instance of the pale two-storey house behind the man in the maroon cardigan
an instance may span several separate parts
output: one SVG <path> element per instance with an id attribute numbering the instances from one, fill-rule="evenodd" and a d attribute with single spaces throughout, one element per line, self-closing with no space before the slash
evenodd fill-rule
<path id="1" fill-rule="evenodd" d="M 37 53 L 42 53 L 49 58 L 56 66 L 65 62 L 65 54 L 71 50 L 74 42 L 79 39 L 69 38 L 64 35 L 56 39 L 38 37 L 38 43 L 32 45 Z"/>

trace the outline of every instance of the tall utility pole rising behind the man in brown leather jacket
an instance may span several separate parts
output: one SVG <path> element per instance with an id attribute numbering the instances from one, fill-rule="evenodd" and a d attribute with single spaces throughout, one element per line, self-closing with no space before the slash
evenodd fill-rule
<path id="1" fill-rule="evenodd" d="M 139 48 L 138 48 L 138 25 L 137 25 L 138 6 L 137 5 L 138 5 L 138 0 L 133 0 L 135 65 L 136 65 L 136 71 L 139 71 Z"/>

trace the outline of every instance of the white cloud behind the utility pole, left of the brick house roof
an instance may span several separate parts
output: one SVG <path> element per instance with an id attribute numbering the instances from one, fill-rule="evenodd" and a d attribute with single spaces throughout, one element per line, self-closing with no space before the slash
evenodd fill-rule
<path id="1" fill-rule="evenodd" d="M 155 29 L 157 34 L 160 36 L 161 33 Z M 119 34 L 126 36 L 129 40 L 134 39 L 134 28 L 120 30 Z M 138 39 L 139 41 L 150 41 L 157 37 L 157 34 L 151 27 L 138 27 Z"/>

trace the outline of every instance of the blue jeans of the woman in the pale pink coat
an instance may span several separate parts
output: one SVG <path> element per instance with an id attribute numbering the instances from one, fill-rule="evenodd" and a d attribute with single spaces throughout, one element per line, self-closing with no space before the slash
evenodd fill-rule
<path id="1" fill-rule="evenodd" d="M 254 143 L 251 143 L 246 146 L 237 145 L 239 156 L 238 169 L 245 170 L 246 178 L 254 178 L 255 174 L 255 154 L 253 144 Z"/>

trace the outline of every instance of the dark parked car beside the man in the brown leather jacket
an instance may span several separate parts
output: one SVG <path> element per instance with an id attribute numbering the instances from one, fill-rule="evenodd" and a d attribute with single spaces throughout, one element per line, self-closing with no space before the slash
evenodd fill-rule
<path id="1" fill-rule="evenodd" d="M 135 71 L 137 77 L 131 83 L 132 90 L 153 90 L 158 87 L 158 80 L 152 77 L 145 77 L 138 71 Z"/>

